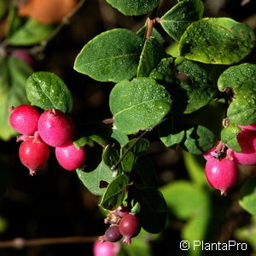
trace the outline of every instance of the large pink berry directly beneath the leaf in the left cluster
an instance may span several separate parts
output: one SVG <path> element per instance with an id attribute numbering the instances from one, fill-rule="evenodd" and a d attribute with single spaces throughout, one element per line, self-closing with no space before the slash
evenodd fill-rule
<path id="1" fill-rule="evenodd" d="M 38 120 L 38 132 L 44 143 L 61 147 L 73 139 L 73 121 L 61 110 L 49 109 Z"/>

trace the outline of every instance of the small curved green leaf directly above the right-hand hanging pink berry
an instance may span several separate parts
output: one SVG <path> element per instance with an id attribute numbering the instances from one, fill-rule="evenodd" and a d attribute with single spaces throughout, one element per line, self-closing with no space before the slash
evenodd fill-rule
<path id="1" fill-rule="evenodd" d="M 236 125 L 229 125 L 221 131 L 221 140 L 236 152 L 241 152 L 241 147 L 237 142 L 237 134 L 240 132 L 240 128 Z"/>

